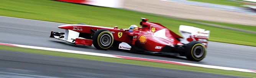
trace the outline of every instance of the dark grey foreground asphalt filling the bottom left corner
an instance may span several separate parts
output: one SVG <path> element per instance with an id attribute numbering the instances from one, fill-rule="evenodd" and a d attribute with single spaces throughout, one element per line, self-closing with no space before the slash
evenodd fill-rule
<path id="1" fill-rule="evenodd" d="M 0 59 L 0 78 L 242 78 L 4 50 Z"/>

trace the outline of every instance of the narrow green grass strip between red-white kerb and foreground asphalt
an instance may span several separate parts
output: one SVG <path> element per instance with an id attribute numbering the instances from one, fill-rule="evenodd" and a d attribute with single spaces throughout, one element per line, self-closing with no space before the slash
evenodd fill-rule
<path id="1" fill-rule="evenodd" d="M 184 66 L 184 65 L 148 62 L 148 61 L 141 61 L 141 60 L 119 59 L 119 58 L 112 58 L 112 57 L 91 56 L 91 55 L 84 55 L 84 54 L 64 53 L 64 52 L 57 52 L 57 51 L 47 51 L 47 50 L 40 50 L 40 49 L 20 48 L 20 47 L 3 46 L 3 45 L 0 45 L 0 49 L 9 50 L 9 51 L 26 52 L 26 53 L 62 56 L 62 57 L 73 57 L 73 58 L 79 58 L 79 59 L 99 60 L 99 61 L 115 62 L 115 63 L 122 63 L 122 64 L 143 65 L 143 66 L 150 66 L 150 67 L 171 68 L 171 69 L 178 69 L 178 70 L 256 78 L 255 73 L 238 72 L 238 71 L 231 71 L 231 70 L 191 67 L 191 66 Z"/>

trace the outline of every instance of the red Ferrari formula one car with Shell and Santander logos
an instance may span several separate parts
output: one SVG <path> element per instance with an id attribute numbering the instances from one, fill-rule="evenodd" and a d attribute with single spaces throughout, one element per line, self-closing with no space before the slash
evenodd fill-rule
<path id="1" fill-rule="evenodd" d="M 64 40 L 76 45 L 94 45 L 97 49 L 111 47 L 128 51 L 140 51 L 171 56 L 185 56 L 189 60 L 200 61 L 206 55 L 210 31 L 192 26 L 180 25 L 181 36 L 155 22 L 142 21 L 137 30 L 100 27 L 85 24 L 61 25 L 65 33 L 51 32 L 51 38 Z"/>

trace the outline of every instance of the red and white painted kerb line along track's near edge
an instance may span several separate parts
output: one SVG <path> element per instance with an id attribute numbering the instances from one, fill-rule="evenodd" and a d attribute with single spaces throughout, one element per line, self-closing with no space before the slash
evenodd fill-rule
<path id="1" fill-rule="evenodd" d="M 231 68 L 231 67 L 220 67 L 220 66 L 203 65 L 203 64 L 192 64 L 192 63 L 175 62 L 175 61 L 168 61 L 168 60 L 147 59 L 147 58 L 139 58 L 139 57 L 119 56 L 119 55 L 102 54 L 102 53 L 91 53 L 91 52 L 74 51 L 74 50 L 67 50 L 67 49 L 45 48 L 45 47 L 38 47 L 38 46 L 16 45 L 16 44 L 8 44 L 8 43 L 0 43 L 0 45 L 16 46 L 16 47 L 32 48 L 32 49 L 42 49 L 42 50 L 48 50 L 48 51 L 60 51 L 60 52 L 66 52 L 66 53 L 86 54 L 86 55 L 93 55 L 93 56 L 114 57 L 114 58 L 132 59 L 132 60 L 144 60 L 144 61 L 150 61 L 150 62 L 162 62 L 162 63 L 168 63 L 168 64 L 187 65 L 187 66 L 195 66 L 195 67 L 205 67 L 205 68 L 215 68 L 215 69 L 222 69 L 222 70 L 234 70 L 234 71 L 240 71 L 240 72 L 256 73 L 256 70 Z"/>

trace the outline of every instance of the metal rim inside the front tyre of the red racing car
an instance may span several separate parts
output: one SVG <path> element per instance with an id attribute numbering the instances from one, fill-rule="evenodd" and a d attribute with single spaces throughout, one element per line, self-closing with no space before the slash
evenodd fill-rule
<path id="1" fill-rule="evenodd" d="M 103 46 L 108 46 L 111 43 L 111 37 L 108 34 L 104 34 L 100 37 L 100 44 Z"/>

